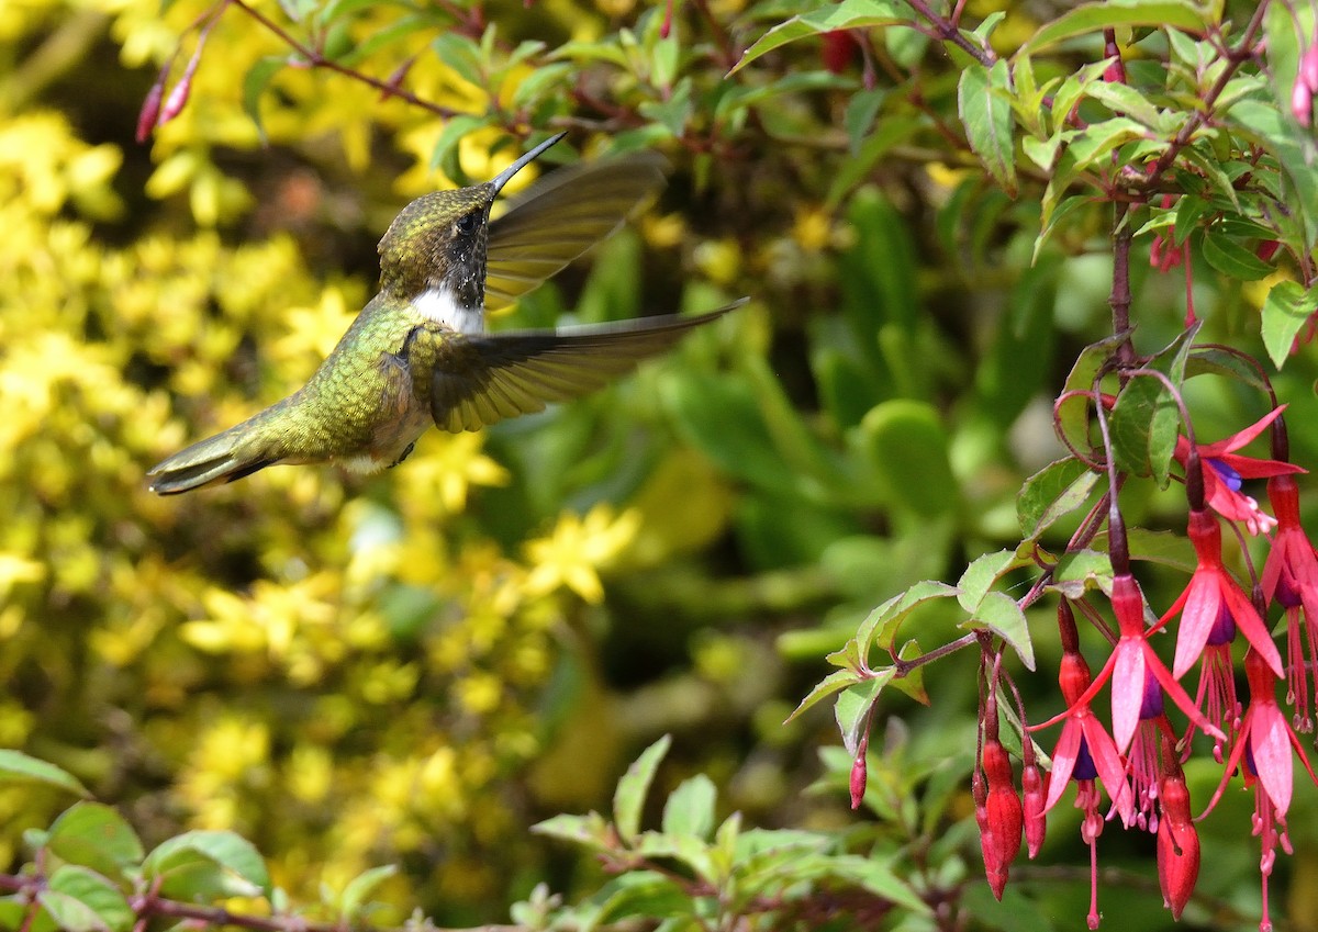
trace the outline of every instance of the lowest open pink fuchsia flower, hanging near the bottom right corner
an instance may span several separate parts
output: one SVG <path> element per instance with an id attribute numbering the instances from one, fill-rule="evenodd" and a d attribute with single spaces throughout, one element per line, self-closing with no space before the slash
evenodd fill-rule
<path id="1" fill-rule="evenodd" d="M 1255 650 L 1244 656 L 1244 673 L 1249 683 L 1249 708 L 1240 723 L 1240 733 L 1227 758 L 1226 773 L 1217 792 L 1209 800 L 1205 815 L 1217 806 L 1226 790 L 1227 782 L 1244 758 L 1244 783 L 1255 790 L 1253 835 L 1263 845 L 1259 871 L 1263 874 L 1263 919 L 1260 929 L 1271 929 L 1268 918 L 1268 877 L 1277 860 L 1277 845 L 1292 853 L 1290 839 L 1286 835 L 1286 812 L 1290 810 L 1293 790 L 1292 748 L 1300 756 L 1309 778 L 1318 783 L 1309 757 L 1300 746 L 1300 738 L 1290 729 L 1285 716 L 1277 707 L 1277 679 L 1268 663 Z M 1202 817 L 1202 816 L 1201 816 Z"/>

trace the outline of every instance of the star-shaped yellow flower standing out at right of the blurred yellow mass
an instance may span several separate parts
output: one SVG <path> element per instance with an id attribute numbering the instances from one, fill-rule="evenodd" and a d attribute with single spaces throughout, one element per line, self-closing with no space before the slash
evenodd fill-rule
<path id="1" fill-rule="evenodd" d="M 617 519 L 608 504 L 592 508 L 585 520 L 564 513 L 548 537 L 527 542 L 526 554 L 532 569 L 526 590 L 544 595 L 567 586 L 589 603 L 601 602 L 604 586 L 597 570 L 617 559 L 639 527 L 641 515 L 634 508 Z"/>

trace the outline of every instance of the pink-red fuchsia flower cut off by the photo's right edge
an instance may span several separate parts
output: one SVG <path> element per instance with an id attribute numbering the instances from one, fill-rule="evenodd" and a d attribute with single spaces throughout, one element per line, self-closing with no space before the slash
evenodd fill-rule
<path id="1" fill-rule="evenodd" d="M 1286 702 L 1294 708 L 1294 727 L 1307 732 L 1313 731 L 1313 719 L 1305 669 L 1318 663 L 1318 556 L 1300 525 L 1300 486 L 1294 477 L 1268 479 L 1268 500 L 1277 516 L 1277 536 L 1263 565 L 1263 598 L 1269 606 L 1278 602 L 1286 609 Z M 1318 688 L 1318 669 L 1313 677 Z"/>

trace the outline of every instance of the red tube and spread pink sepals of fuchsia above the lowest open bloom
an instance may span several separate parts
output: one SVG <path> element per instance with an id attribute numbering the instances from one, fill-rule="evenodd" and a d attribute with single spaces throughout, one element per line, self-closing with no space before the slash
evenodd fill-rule
<path id="1" fill-rule="evenodd" d="M 1205 479 L 1210 471 L 1203 471 Z M 1205 509 L 1191 508 L 1189 534 L 1198 566 L 1194 567 L 1189 586 L 1177 596 L 1159 623 L 1160 625 L 1166 624 L 1168 619 L 1177 612 L 1181 613 L 1172 674 L 1180 679 L 1194 666 L 1203 654 L 1209 634 L 1213 633 L 1214 627 L 1220 625 L 1219 613 L 1224 609 L 1230 613 L 1234 627 L 1244 633 L 1246 640 L 1267 661 L 1273 673 L 1278 677 L 1282 675 L 1281 654 L 1277 653 L 1277 645 L 1272 642 L 1268 627 L 1259 617 L 1249 596 L 1244 594 L 1244 590 L 1231 578 L 1222 563 L 1222 528 L 1217 519 Z"/>

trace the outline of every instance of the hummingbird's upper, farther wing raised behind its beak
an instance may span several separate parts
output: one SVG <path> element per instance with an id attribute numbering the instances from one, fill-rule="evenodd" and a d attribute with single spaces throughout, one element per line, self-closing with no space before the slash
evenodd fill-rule
<path id="1" fill-rule="evenodd" d="M 507 307 L 613 233 L 663 186 L 667 167 L 658 153 L 584 162 L 510 197 L 489 225 L 485 308 Z"/>

